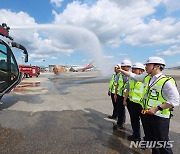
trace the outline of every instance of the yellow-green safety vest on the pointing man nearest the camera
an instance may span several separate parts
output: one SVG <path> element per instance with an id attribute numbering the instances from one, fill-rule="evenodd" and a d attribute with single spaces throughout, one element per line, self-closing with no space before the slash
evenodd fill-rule
<path id="1" fill-rule="evenodd" d="M 171 80 L 174 84 L 176 83 L 172 77 L 165 76 L 159 79 L 151 87 L 148 87 L 150 79 L 151 79 L 150 75 L 146 76 L 144 79 L 144 98 L 142 100 L 144 109 L 157 107 L 158 105 L 166 103 L 167 100 L 162 95 L 162 88 L 168 80 Z M 155 113 L 156 116 L 163 117 L 163 118 L 169 118 L 170 114 L 171 114 L 170 108 L 164 109 L 162 111 L 157 111 Z"/>

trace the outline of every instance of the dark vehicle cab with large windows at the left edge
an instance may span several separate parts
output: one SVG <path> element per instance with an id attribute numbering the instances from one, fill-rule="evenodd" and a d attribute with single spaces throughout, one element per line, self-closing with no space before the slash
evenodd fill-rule
<path id="1" fill-rule="evenodd" d="M 4 23 L 0 25 L 0 98 L 13 89 L 22 78 L 12 49 L 23 50 L 25 62 L 28 61 L 26 48 L 13 41 L 13 38 L 9 36 L 9 29 Z"/>

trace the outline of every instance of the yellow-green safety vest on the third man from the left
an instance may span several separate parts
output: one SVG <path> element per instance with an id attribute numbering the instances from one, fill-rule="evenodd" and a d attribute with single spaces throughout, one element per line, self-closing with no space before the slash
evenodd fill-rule
<path id="1" fill-rule="evenodd" d="M 144 93 L 144 84 L 140 81 L 135 83 L 134 79 L 129 81 L 129 99 L 134 103 L 139 103 L 142 105 L 142 98 Z"/>

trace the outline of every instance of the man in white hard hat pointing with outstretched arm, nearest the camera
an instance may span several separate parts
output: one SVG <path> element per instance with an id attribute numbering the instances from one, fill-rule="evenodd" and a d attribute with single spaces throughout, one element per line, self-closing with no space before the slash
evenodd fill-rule
<path id="1" fill-rule="evenodd" d="M 120 71 L 144 83 L 142 122 L 145 140 L 153 142 L 152 153 L 172 154 L 169 144 L 171 109 L 179 106 L 179 92 L 172 77 L 163 75 L 165 61 L 161 57 L 150 57 L 146 64 L 147 75 L 136 75 Z M 161 142 L 162 146 L 159 146 Z M 156 144 L 155 144 L 156 143 Z M 148 144 L 148 142 L 147 142 Z"/>

